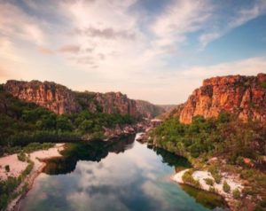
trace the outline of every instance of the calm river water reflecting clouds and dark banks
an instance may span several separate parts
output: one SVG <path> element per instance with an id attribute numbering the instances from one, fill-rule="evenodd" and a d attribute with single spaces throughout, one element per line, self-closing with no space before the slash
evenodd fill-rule
<path id="1" fill-rule="evenodd" d="M 223 210 L 219 196 L 170 180 L 187 160 L 134 137 L 67 144 L 62 153 L 47 161 L 20 210 Z"/>

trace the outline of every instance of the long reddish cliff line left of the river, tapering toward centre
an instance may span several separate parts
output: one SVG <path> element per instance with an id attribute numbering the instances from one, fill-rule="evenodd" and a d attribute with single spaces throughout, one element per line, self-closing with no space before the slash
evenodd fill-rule
<path id="1" fill-rule="evenodd" d="M 46 107 L 59 114 L 89 110 L 90 113 L 120 113 L 153 118 L 165 111 L 149 102 L 130 99 L 121 92 L 78 92 L 55 82 L 11 80 L 4 84 L 4 90 L 14 97 Z"/>

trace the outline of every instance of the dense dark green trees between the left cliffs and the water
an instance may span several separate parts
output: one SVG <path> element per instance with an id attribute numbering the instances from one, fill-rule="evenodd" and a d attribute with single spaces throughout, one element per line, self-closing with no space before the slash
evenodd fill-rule
<path id="1" fill-rule="evenodd" d="M 86 109 L 81 113 L 57 115 L 13 98 L 0 86 L 0 155 L 35 142 L 101 138 L 104 137 L 103 127 L 133 122 L 129 115 L 89 113 Z"/>

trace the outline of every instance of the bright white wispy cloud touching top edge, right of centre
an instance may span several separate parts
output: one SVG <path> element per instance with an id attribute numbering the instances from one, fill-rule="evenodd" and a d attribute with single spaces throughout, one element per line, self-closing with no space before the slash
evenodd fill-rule
<path id="1" fill-rule="evenodd" d="M 153 24 L 158 45 L 182 43 L 186 35 L 204 27 L 211 17 L 212 5 L 205 0 L 181 0 L 168 6 Z"/>

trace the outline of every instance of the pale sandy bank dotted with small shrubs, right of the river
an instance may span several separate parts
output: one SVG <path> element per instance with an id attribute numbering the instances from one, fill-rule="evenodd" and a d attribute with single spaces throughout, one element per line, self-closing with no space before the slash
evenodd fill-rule
<path id="1" fill-rule="evenodd" d="M 208 184 L 206 184 L 204 179 L 206 179 L 206 178 L 214 179 L 213 176 L 211 176 L 211 174 L 207 171 L 196 170 L 192 174 L 192 177 L 195 180 L 198 180 L 200 182 L 200 187 L 196 187 L 193 184 L 189 184 L 187 182 L 184 182 L 184 180 L 182 178 L 182 176 L 184 176 L 184 173 L 187 172 L 189 169 L 191 169 L 191 168 L 186 168 L 180 172 L 177 172 L 174 176 L 170 176 L 171 180 L 173 182 L 175 182 L 176 184 L 186 184 L 186 185 L 190 185 L 194 188 L 197 188 L 199 190 L 214 192 L 215 194 L 218 194 L 218 195 L 223 197 L 224 201 L 227 203 L 230 210 L 237 210 L 235 206 L 236 206 L 236 202 L 238 200 L 233 198 L 232 191 L 236 188 L 238 188 L 239 191 L 242 191 L 243 185 L 240 184 L 239 181 L 236 181 L 234 176 L 224 176 L 223 175 L 222 181 L 220 184 L 208 185 Z M 226 181 L 228 184 L 231 184 L 231 192 L 230 193 L 223 191 L 223 181 Z M 210 187 L 214 187 L 215 191 L 210 191 L 209 190 Z"/>

